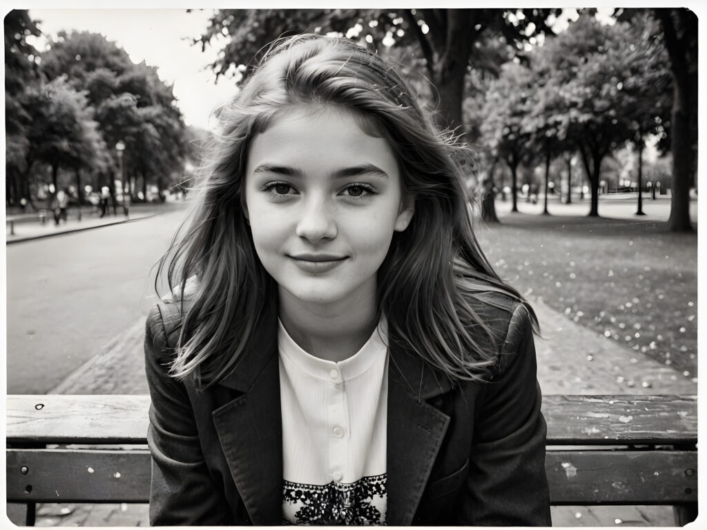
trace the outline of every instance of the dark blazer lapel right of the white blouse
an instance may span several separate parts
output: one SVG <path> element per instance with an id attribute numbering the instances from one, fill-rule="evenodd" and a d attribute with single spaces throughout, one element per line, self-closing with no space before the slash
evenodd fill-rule
<path id="1" fill-rule="evenodd" d="M 388 526 L 409 526 L 450 422 L 426 399 L 450 389 L 423 361 L 390 348 L 387 416 Z"/>

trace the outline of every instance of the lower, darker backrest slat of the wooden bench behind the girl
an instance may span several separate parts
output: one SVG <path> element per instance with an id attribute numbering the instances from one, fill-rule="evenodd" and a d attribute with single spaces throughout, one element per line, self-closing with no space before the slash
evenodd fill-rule
<path id="1" fill-rule="evenodd" d="M 145 450 L 6 453 L 8 502 L 149 500 L 150 456 Z M 26 475 L 22 466 L 27 467 Z M 551 451 L 545 467 L 553 505 L 674 505 L 697 500 L 696 452 Z M 26 493 L 28 485 L 32 488 Z"/>

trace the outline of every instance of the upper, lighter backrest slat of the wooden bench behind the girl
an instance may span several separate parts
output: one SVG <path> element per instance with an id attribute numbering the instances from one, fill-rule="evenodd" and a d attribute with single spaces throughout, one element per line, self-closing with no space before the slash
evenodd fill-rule
<path id="1" fill-rule="evenodd" d="M 40 406 L 40 408 L 37 408 Z M 8 443 L 145 443 L 149 396 L 7 397 Z M 694 396 L 544 396 L 549 445 L 694 444 Z"/>

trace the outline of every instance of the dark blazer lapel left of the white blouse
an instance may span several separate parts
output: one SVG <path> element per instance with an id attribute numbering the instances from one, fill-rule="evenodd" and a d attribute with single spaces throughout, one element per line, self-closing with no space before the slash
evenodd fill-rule
<path id="1" fill-rule="evenodd" d="M 269 311 L 242 360 L 221 382 L 242 392 L 212 416 L 245 508 L 257 526 L 282 523 L 282 419 L 277 314 Z"/>

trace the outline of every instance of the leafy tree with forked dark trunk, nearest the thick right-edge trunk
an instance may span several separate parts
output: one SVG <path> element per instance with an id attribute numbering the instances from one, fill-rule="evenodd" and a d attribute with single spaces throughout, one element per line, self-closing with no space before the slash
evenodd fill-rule
<path id="1" fill-rule="evenodd" d="M 665 122 L 665 114 L 657 115 L 665 107 L 656 104 L 667 92 L 661 57 L 658 44 L 631 25 L 603 25 L 588 13 L 534 54 L 540 88 L 527 130 L 546 148 L 556 139 L 555 151 L 580 153 L 591 184 L 590 216 L 598 216 L 604 157 Z"/>

